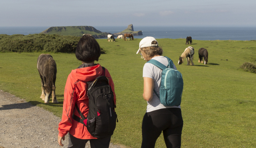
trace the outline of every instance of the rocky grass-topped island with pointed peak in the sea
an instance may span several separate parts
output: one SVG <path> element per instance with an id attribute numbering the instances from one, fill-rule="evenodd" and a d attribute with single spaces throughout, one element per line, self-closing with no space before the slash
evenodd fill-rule
<path id="1" fill-rule="evenodd" d="M 101 32 L 95 29 L 92 26 L 61 26 L 61 27 L 50 27 L 43 32 L 42 34 L 59 34 L 59 35 L 72 35 L 72 36 L 82 36 L 83 34 L 91 34 L 95 39 L 98 38 L 107 38 L 109 32 Z M 133 25 L 128 25 L 128 27 L 119 33 L 114 33 L 112 35 L 123 35 L 124 33 L 131 33 L 134 36 L 142 35 L 142 31 L 134 31 Z"/>

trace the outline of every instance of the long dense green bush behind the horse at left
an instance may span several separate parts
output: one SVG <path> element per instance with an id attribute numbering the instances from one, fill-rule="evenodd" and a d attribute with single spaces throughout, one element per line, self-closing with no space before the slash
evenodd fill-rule
<path id="1" fill-rule="evenodd" d="M 74 53 L 80 37 L 29 34 L 0 35 L 1 52 L 62 52 Z"/>

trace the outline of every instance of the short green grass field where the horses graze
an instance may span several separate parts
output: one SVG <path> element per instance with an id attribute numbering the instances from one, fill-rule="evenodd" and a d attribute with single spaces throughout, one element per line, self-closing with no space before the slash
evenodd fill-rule
<path id="1" fill-rule="evenodd" d="M 147 107 L 142 98 L 145 61 L 136 54 L 140 40 L 97 39 L 107 53 L 98 63 L 109 70 L 115 83 L 119 122 L 111 141 L 132 148 L 140 147 L 141 122 Z M 182 147 L 256 147 L 256 75 L 239 69 L 244 62 L 255 62 L 256 41 L 193 40 L 192 45 L 185 45 L 185 39 L 157 41 L 184 80 Z M 195 48 L 195 66 L 178 65 L 179 56 L 188 46 Z M 201 47 L 208 50 L 207 65 L 197 62 Z M 0 89 L 61 117 L 67 76 L 81 62 L 75 54 L 50 53 L 57 64 L 56 96 L 60 103 L 44 104 L 36 69 L 40 54 L 0 53 Z M 156 147 L 165 147 L 162 135 Z"/>

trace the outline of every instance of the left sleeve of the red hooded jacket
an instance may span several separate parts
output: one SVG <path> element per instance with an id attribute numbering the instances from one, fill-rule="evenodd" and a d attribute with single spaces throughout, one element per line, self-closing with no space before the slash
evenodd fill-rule
<path id="1" fill-rule="evenodd" d="M 76 87 L 75 83 L 72 82 L 71 74 L 69 74 L 64 90 L 62 118 L 58 128 L 60 137 L 67 135 L 72 126 L 72 115 L 74 112 L 75 103 Z"/>

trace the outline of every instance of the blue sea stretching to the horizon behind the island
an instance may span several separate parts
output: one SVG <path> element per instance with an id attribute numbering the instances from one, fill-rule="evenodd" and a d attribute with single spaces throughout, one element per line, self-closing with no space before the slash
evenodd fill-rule
<path id="1" fill-rule="evenodd" d="M 0 34 L 34 34 L 40 33 L 51 26 L 45 27 L 0 27 Z M 127 26 L 93 26 L 101 32 L 117 33 Z M 256 27 L 196 27 L 196 26 L 133 26 L 134 31 L 142 31 L 143 35 L 134 38 L 142 39 L 152 36 L 156 39 L 184 39 L 191 36 L 196 40 L 256 40 Z M 106 39 L 106 38 L 102 38 Z"/>

